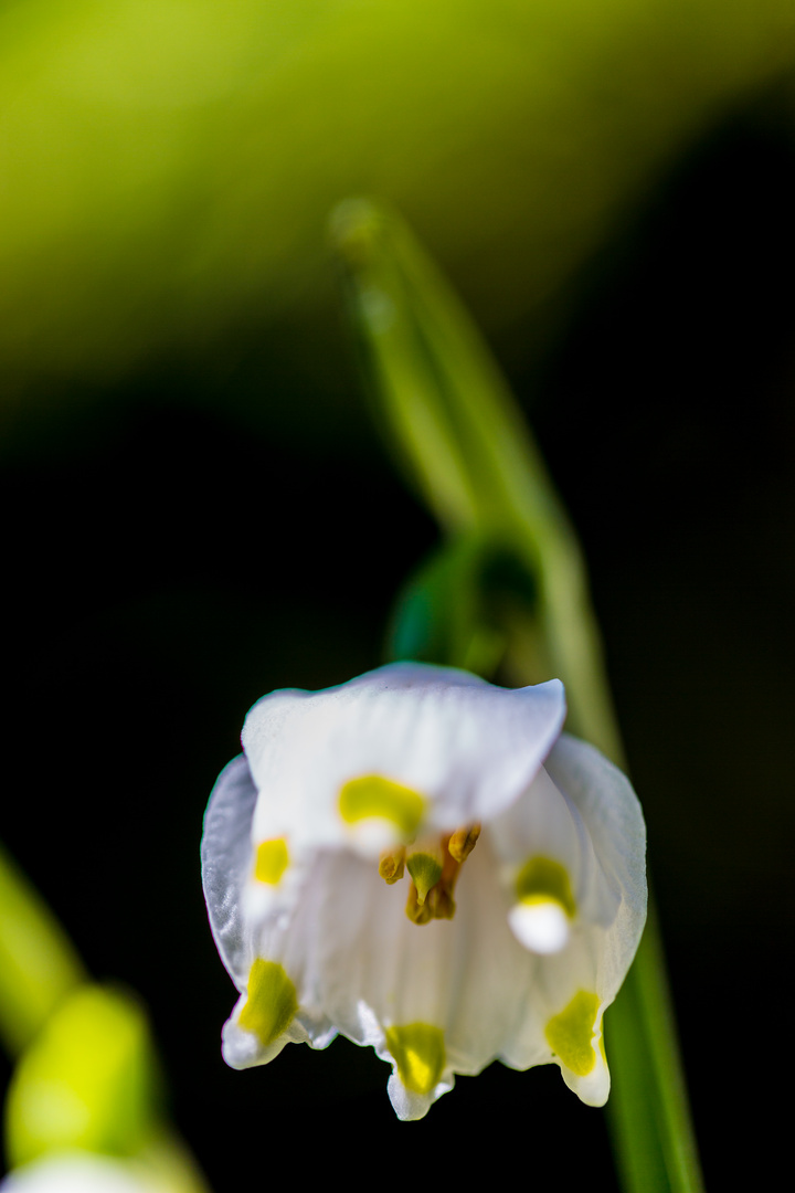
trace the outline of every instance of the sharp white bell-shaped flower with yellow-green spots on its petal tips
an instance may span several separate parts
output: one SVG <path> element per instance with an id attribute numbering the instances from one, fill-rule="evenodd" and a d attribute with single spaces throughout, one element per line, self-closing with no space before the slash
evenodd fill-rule
<path id="1" fill-rule="evenodd" d="M 403 1119 L 493 1059 L 554 1062 L 605 1101 L 602 1014 L 642 932 L 645 828 L 564 718 L 558 680 L 508 691 L 417 663 L 254 705 L 201 846 L 240 991 L 228 1064 L 341 1032 L 392 1064 Z"/>

